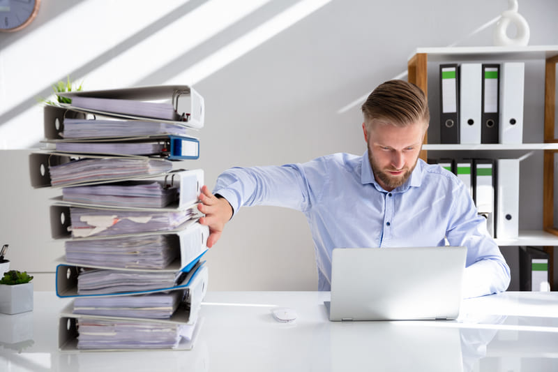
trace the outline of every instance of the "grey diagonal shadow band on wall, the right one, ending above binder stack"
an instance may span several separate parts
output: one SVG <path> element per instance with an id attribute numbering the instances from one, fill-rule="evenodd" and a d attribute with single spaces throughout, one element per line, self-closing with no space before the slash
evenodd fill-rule
<path id="1" fill-rule="evenodd" d="M 282 0 L 266 3 L 264 6 L 246 15 L 232 26 L 209 38 L 204 43 L 197 45 L 197 47 L 194 47 L 188 52 L 184 52 L 172 61 L 158 68 L 158 70 L 146 75 L 135 84 L 137 86 L 156 85 L 171 80 L 172 77 L 182 73 L 204 58 L 209 57 L 209 55 L 216 52 L 216 50 L 220 50 L 222 47 L 229 45 L 229 43 L 248 34 L 248 32 L 259 27 L 259 25 L 299 2 L 300 0 Z"/>

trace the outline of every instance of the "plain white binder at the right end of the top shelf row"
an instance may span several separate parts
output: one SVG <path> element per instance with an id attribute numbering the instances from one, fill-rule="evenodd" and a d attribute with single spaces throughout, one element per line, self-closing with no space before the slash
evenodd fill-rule
<path id="1" fill-rule="evenodd" d="M 500 71 L 500 143 L 523 142 L 525 62 L 504 62 Z"/>

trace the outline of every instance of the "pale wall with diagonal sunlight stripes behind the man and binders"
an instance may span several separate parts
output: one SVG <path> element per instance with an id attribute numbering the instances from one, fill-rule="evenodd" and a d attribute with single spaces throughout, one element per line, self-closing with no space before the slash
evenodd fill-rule
<path id="1" fill-rule="evenodd" d="M 0 243 L 10 244 L 14 268 L 54 271 L 61 243 L 50 240 L 43 200 L 56 192 L 28 186 L 29 151 L 20 150 L 38 147 L 43 137 L 36 98 L 67 75 L 86 89 L 193 84 L 206 100 L 201 158 L 177 166 L 203 168 L 212 187 L 234 165 L 361 154 L 363 98 L 385 80 L 405 79 L 418 46 L 491 45 L 493 24 L 475 31 L 506 6 L 506 0 L 43 0 L 27 29 L 0 34 L 0 165 L 10 172 L 0 196 Z M 558 44 L 557 1 L 524 0 L 519 9 L 531 27 L 530 45 Z M 18 218 L 15 208 L 22 210 Z M 542 211 L 534 209 L 524 223 L 538 228 Z M 207 260 L 211 290 L 317 286 L 310 232 L 296 211 L 242 209 Z M 52 288 L 52 274 L 39 277 L 36 286 Z"/>

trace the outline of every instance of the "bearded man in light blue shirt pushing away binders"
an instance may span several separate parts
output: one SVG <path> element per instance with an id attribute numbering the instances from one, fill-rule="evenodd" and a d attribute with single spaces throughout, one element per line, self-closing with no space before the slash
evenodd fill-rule
<path id="1" fill-rule="evenodd" d="M 467 246 L 464 297 L 506 290 L 509 267 L 465 185 L 418 159 L 430 114 L 421 89 L 402 80 L 380 84 L 362 106 L 363 156 L 333 154 L 303 164 L 232 168 L 199 211 L 208 246 L 242 206 L 302 211 L 315 244 L 319 290 L 329 290 L 333 248 Z"/>

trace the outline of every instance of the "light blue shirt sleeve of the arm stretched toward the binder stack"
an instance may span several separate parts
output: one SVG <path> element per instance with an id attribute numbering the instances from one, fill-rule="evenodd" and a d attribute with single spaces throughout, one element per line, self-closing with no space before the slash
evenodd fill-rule
<path id="1" fill-rule="evenodd" d="M 318 158 L 304 164 L 231 168 L 218 177 L 213 193 L 240 207 L 271 205 L 306 211 L 319 195 L 328 176 L 327 163 Z"/>

